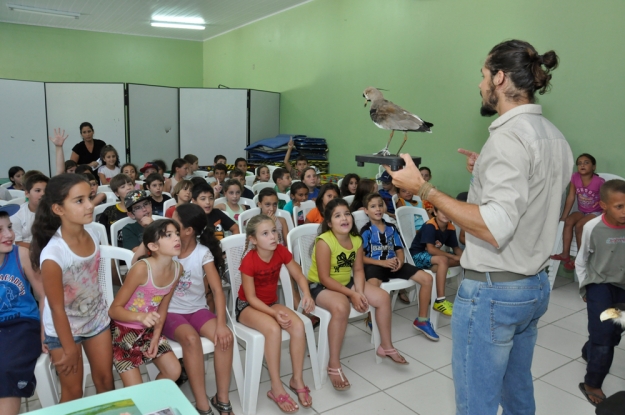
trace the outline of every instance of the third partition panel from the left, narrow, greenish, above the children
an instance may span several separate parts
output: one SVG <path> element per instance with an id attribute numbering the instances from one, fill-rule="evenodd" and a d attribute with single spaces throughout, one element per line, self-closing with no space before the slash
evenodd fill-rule
<path id="1" fill-rule="evenodd" d="M 128 142 L 130 161 L 171 163 L 180 154 L 178 88 L 128 84 Z"/>

